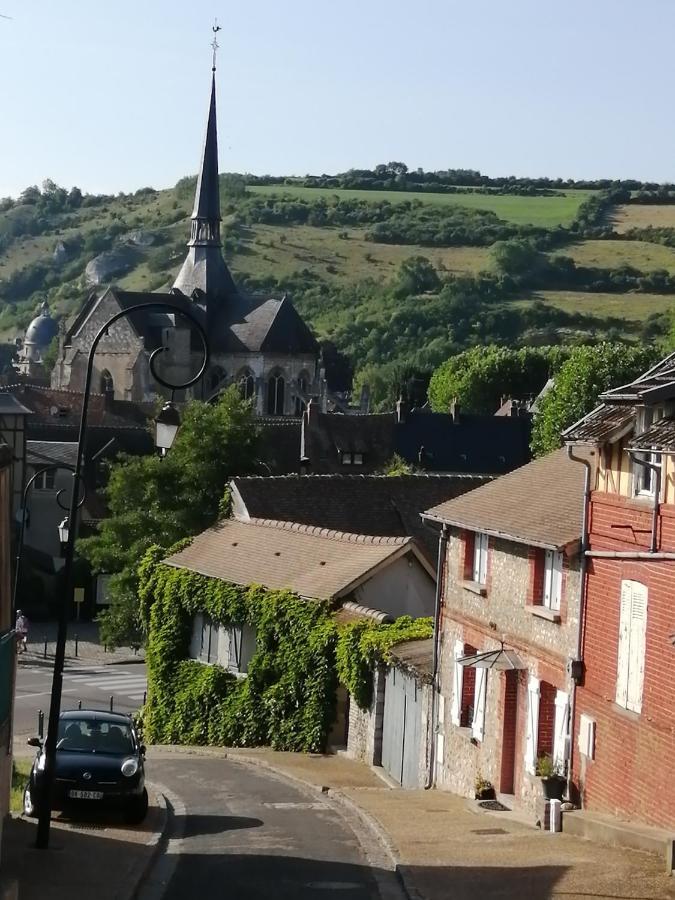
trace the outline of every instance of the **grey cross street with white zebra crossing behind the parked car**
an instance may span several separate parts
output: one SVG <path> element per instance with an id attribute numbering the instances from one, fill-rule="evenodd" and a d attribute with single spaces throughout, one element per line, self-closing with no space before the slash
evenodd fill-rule
<path id="1" fill-rule="evenodd" d="M 14 734 L 34 735 L 38 710 L 47 718 L 52 689 L 52 666 L 21 663 L 16 676 L 14 706 Z M 96 666 L 82 663 L 66 664 L 63 678 L 61 709 L 73 709 L 78 701 L 83 707 L 114 709 L 130 713 L 143 703 L 146 689 L 145 664 Z"/>

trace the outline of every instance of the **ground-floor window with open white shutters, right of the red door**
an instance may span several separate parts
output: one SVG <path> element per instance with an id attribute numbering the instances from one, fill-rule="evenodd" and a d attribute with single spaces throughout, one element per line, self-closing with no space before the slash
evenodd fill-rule
<path id="1" fill-rule="evenodd" d="M 552 684 L 531 675 L 527 683 L 527 731 L 525 769 L 535 775 L 537 759 L 552 757 L 559 771 L 564 771 L 568 749 L 569 696 Z"/>

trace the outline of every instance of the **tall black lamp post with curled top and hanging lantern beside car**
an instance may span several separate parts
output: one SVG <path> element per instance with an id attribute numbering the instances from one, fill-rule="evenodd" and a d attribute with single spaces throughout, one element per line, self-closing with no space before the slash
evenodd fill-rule
<path id="1" fill-rule="evenodd" d="M 173 397 L 174 391 L 183 390 L 184 388 L 188 388 L 191 385 L 195 384 L 197 381 L 199 381 L 199 379 L 206 371 L 206 367 L 209 362 L 209 345 L 206 339 L 206 332 L 194 317 L 194 315 L 189 313 L 187 310 L 178 309 L 176 306 L 173 306 L 170 303 L 157 301 L 156 303 L 138 303 L 135 306 L 130 306 L 127 309 L 123 309 L 120 312 L 115 313 L 114 316 L 111 316 L 105 323 L 105 325 L 103 325 L 98 330 L 94 340 L 92 341 L 91 349 L 89 350 L 87 376 L 85 379 L 84 391 L 82 394 L 82 415 L 80 418 L 80 432 L 77 440 L 77 455 L 74 471 L 75 484 L 79 484 L 82 481 L 82 467 L 84 460 L 85 440 L 87 436 L 87 414 L 89 412 L 89 391 L 91 390 L 91 380 L 94 371 L 94 355 L 96 353 L 96 348 L 98 347 L 101 338 L 103 338 L 108 333 L 108 329 L 110 328 L 110 326 L 117 322 L 118 319 L 126 318 L 127 316 L 131 316 L 134 313 L 143 313 L 157 309 L 170 310 L 172 313 L 178 313 L 178 315 L 181 315 L 184 318 L 188 319 L 190 323 L 194 325 L 202 341 L 204 359 L 196 375 L 194 375 L 188 381 L 179 384 L 172 384 L 170 381 L 167 381 L 166 379 L 158 375 L 155 369 L 155 361 L 157 359 L 157 356 L 160 353 L 168 350 L 168 347 L 158 347 L 151 353 L 149 361 L 150 371 L 155 381 L 159 382 L 159 384 L 161 384 L 163 387 L 168 388 L 172 392 L 171 396 Z M 164 408 L 157 417 L 156 437 L 162 455 L 164 455 L 166 451 L 171 447 L 173 439 L 176 436 L 176 432 L 178 431 L 179 424 L 180 417 L 178 415 L 178 410 L 174 407 L 173 402 L 169 400 L 164 404 Z M 76 490 L 73 490 L 71 494 L 70 513 L 68 515 L 67 523 L 68 542 L 66 544 L 66 561 L 64 565 L 64 596 L 63 601 L 59 607 L 59 627 L 56 637 L 56 652 L 54 655 L 54 675 L 52 678 L 52 694 L 49 705 L 49 723 L 47 727 L 47 740 L 45 741 L 44 747 L 44 796 L 41 798 L 42 802 L 40 804 L 40 816 L 38 819 L 37 837 L 35 840 L 35 846 L 39 849 L 45 849 L 49 846 L 49 828 L 52 814 L 52 788 L 54 784 L 54 769 L 56 763 L 56 738 L 59 727 L 59 714 L 61 711 L 63 664 L 66 656 L 66 634 L 68 630 L 68 597 L 70 597 L 73 593 L 73 560 L 75 557 L 75 535 L 77 533 L 77 513 L 79 506 L 81 505 L 78 503 L 77 494 L 78 492 Z"/>

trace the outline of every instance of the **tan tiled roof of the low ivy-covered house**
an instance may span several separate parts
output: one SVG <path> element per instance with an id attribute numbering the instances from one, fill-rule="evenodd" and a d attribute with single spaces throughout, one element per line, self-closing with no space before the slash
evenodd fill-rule
<path id="1" fill-rule="evenodd" d="M 228 519 L 165 560 L 232 584 L 333 599 L 375 566 L 413 550 L 410 538 L 370 537 L 289 522 Z"/>

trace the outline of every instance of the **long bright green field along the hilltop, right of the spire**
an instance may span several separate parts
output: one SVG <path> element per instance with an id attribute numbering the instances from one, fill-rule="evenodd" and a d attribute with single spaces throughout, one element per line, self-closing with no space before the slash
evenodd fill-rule
<path id="1" fill-rule="evenodd" d="M 347 197 L 372 203 L 388 200 L 390 203 L 419 200 L 440 206 L 466 206 L 470 209 L 487 209 L 500 219 L 516 225 L 569 225 L 577 214 L 579 205 L 593 192 L 566 191 L 564 197 L 518 197 L 512 194 L 427 194 L 415 191 L 354 191 L 337 188 L 308 188 L 295 185 L 253 185 L 247 190 L 257 194 L 297 197 L 304 200 L 318 197 Z"/>

